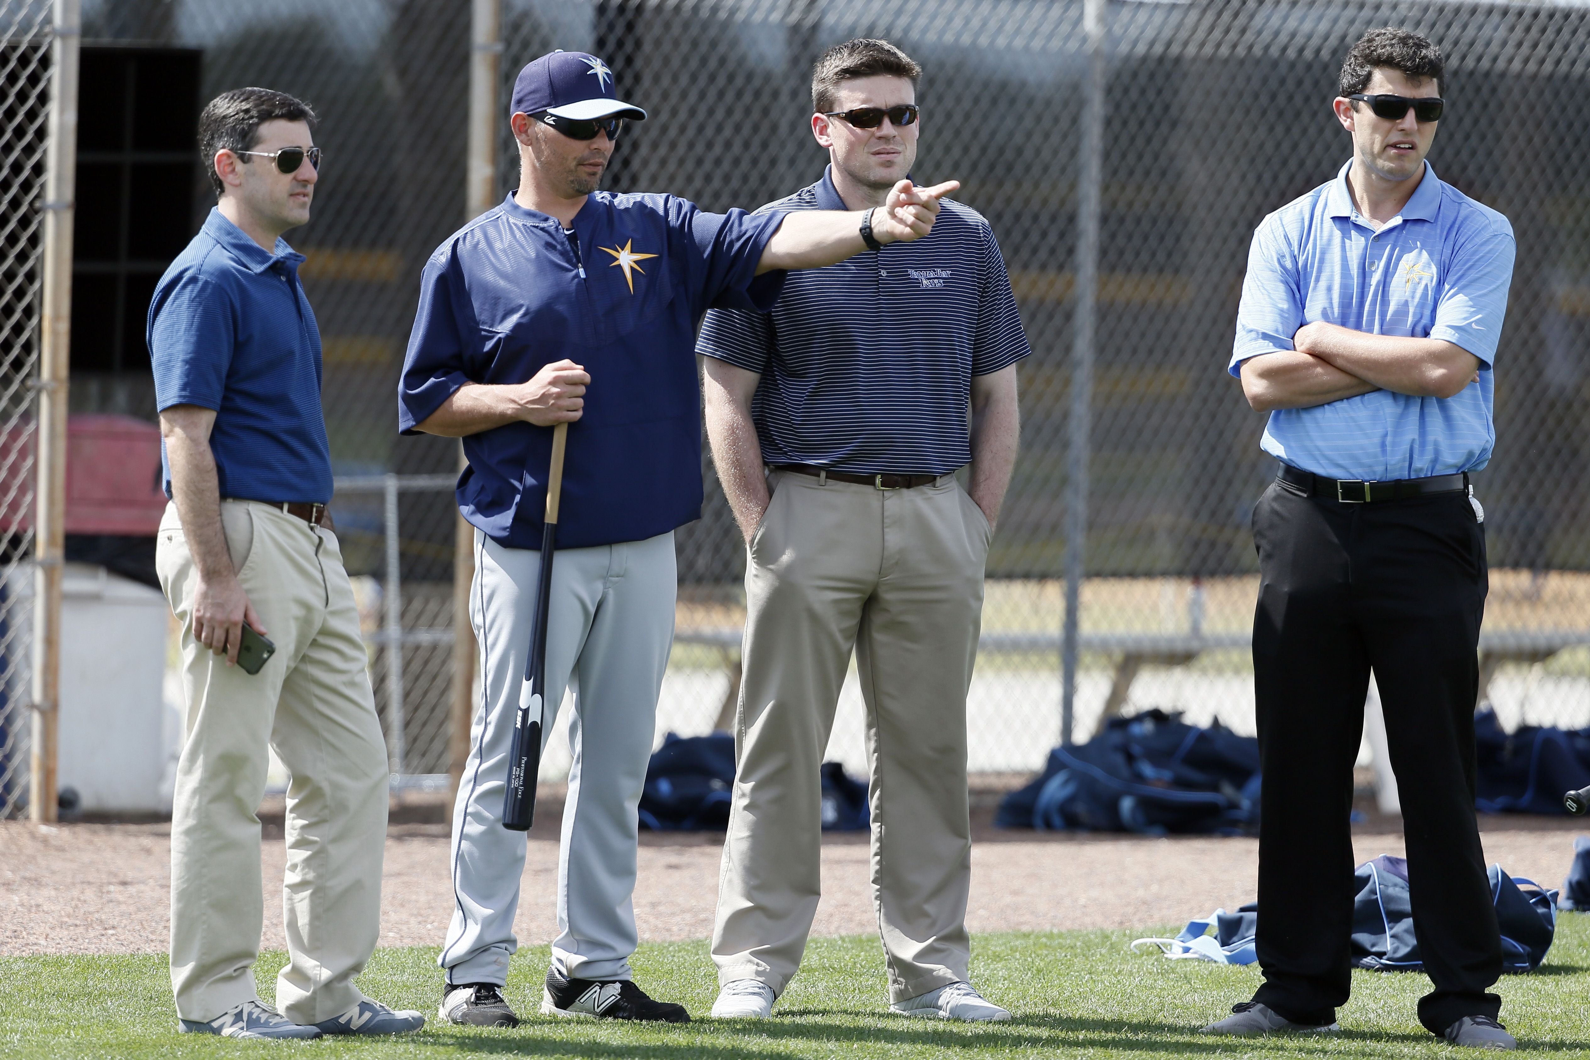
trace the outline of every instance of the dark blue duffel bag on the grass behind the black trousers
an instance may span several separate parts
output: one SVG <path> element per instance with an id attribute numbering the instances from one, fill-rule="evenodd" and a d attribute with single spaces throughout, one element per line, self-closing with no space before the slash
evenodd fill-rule
<path id="1" fill-rule="evenodd" d="M 1507 876 L 1490 866 L 1491 899 L 1501 928 L 1504 973 L 1534 971 L 1552 949 L 1557 933 L 1557 892 L 1534 880 Z M 1409 898 L 1407 860 L 1382 853 L 1353 874 L 1353 963 L 1372 971 L 1423 971 L 1414 936 L 1414 904 Z"/>

